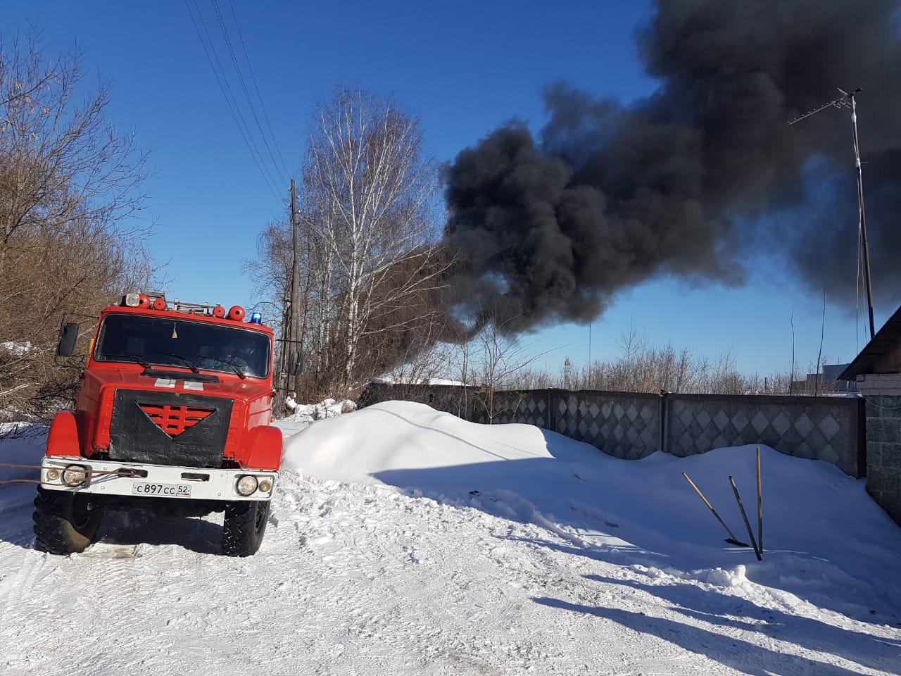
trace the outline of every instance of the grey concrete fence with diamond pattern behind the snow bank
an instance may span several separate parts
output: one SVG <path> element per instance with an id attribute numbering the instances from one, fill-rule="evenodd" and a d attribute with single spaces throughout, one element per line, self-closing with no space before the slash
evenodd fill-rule
<path id="1" fill-rule="evenodd" d="M 525 423 L 590 443 L 617 458 L 694 455 L 763 443 L 799 458 L 866 474 L 863 399 L 759 395 L 653 395 L 530 389 L 494 393 L 445 385 L 372 385 L 361 405 L 403 398 L 476 423 Z M 488 413 L 491 412 L 489 416 Z"/>

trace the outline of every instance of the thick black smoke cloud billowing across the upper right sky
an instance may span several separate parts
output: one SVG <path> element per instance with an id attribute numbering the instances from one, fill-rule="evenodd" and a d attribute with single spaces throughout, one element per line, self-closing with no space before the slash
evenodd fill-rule
<path id="1" fill-rule="evenodd" d="M 655 275 L 741 283 L 761 251 L 811 289 L 852 296 L 850 113 L 787 125 L 839 86 L 863 87 L 874 286 L 897 302 L 898 6 L 660 0 L 637 33 L 652 96 L 621 105 L 547 87 L 538 139 L 507 123 L 446 170 L 460 296 L 496 322 L 586 321 Z"/>

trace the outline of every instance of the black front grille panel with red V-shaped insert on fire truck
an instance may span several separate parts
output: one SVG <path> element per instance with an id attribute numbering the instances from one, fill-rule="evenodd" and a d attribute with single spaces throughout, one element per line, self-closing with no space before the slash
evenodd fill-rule
<path id="1" fill-rule="evenodd" d="M 111 460 L 222 467 L 232 399 L 183 392 L 117 389 Z"/>

